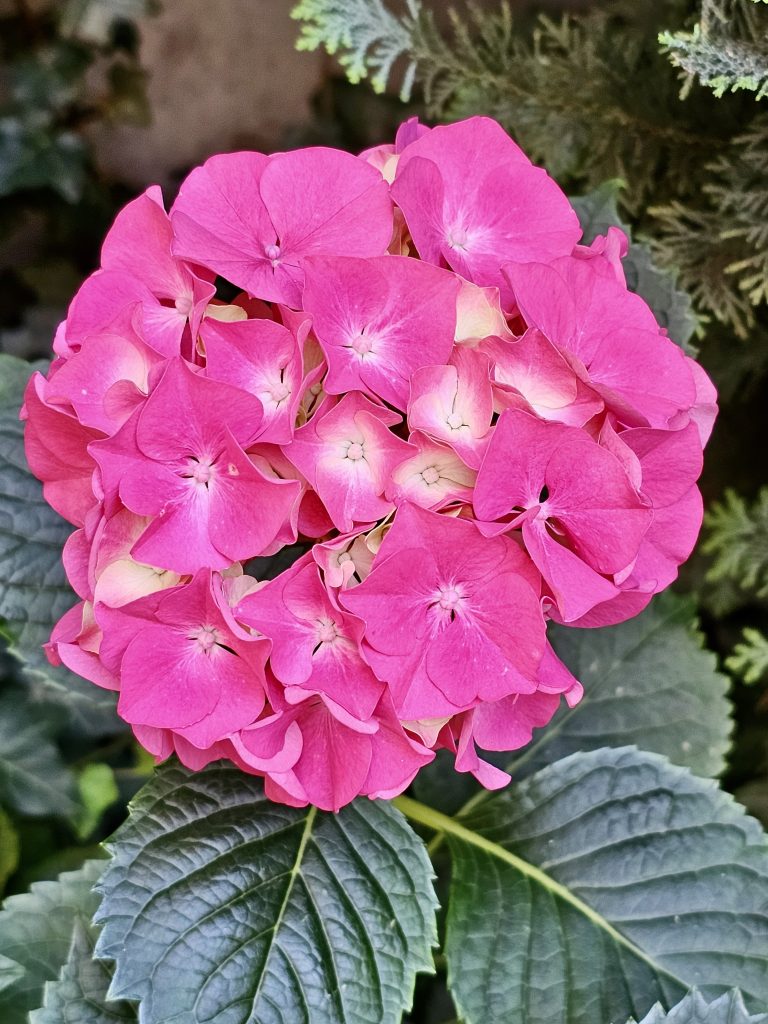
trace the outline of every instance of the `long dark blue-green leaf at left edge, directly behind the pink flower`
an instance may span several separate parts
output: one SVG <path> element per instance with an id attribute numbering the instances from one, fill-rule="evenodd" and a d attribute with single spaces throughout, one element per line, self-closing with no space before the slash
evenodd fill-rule
<path id="1" fill-rule="evenodd" d="M 110 732 L 118 722 L 113 694 L 54 669 L 42 649 L 53 624 L 77 600 L 61 564 L 72 526 L 45 502 L 27 466 L 18 419 L 31 372 L 45 368 L 0 354 L 0 625 L 34 688 L 59 701 L 84 731 Z"/>

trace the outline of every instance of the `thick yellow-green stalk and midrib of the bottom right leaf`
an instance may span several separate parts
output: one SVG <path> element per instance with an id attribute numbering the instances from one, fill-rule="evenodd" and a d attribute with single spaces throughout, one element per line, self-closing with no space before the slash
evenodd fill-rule
<path id="1" fill-rule="evenodd" d="M 574 910 L 578 910 L 579 913 L 611 938 L 615 943 L 624 946 L 624 948 L 629 950 L 633 956 L 642 961 L 642 963 L 649 967 L 656 976 L 668 978 L 670 981 L 674 982 L 678 986 L 681 986 L 683 989 L 688 988 L 688 984 L 684 979 L 679 978 L 676 974 L 673 974 L 667 968 L 657 964 L 646 952 L 644 952 L 644 950 L 635 945 L 631 939 L 628 939 L 627 936 L 623 935 L 617 929 L 615 929 L 609 921 L 606 921 L 606 919 L 602 916 L 602 914 L 593 909 L 589 903 L 580 899 L 566 886 L 551 878 L 541 867 L 537 867 L 529 861 L 523 860 L 522 857 L 518 857 L 516 854 L 507 850 L 505 847 L 500 846 L 498 843 L 494 843 L 492 840 L 485 839 L 485 837 L 481 836 L 479 833 L 473 831 L 471 828 L 467 828 L 465 825 L 460 824 L 455 818 L 451 818 L 446 814 L 441 814 L 439 811 L 435 811 L 431 807 L 427 807 L 425 804 L 419 803 L 417 800 L 412 800 L 410 797 L 397 797 L 394 801 L 392 801 L 392 803 L 402 812 L 402 814 L 406 815 L 407 818 L 410 818 L 412 821 L 425 825 L 427 828 L 432 829 L 438 835 L 442 834 L 444 836 L 454 837 L 454 839 L 467 843 L 469 846 L 473 846 L 488 856 L 495 857 L 497 860 L 501 860 L 510 867 L 515 868 L 515 870 L 519 871 L 525 878 L 540 885 L 552 896 L 562 900 L 564 903 L 567 903 Z"/>

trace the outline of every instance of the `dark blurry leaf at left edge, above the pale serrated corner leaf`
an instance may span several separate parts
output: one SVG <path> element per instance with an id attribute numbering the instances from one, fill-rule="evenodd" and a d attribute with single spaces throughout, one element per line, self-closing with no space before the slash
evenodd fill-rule
<path id="1" fill-rule="evenodd" d="M 23 691 L 0 695 L 0 800 L 22 814 L 72 815 L 75 780 L 41 710 Z"/>

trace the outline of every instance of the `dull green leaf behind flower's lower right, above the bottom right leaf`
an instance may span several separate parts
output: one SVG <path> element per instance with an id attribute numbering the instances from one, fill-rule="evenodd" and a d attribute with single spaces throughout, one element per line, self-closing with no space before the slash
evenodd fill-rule
<path id="1" fill-rule="evenodd" d="M 631 743 L 696 775 L 725 769 L 733 728 L 729 682 L 702 647 L 692 600 L 660 594 L 620 626 L 554 626 L 549 637 L 584 684 L 584 698 L 563 707 L 512 760 L 513 777 L 575 751 Z"/>

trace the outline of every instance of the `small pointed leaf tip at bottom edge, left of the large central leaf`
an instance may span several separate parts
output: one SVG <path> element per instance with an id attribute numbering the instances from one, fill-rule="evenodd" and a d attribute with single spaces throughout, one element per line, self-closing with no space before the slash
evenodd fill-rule
<path id="1" fill-rule="evenodd" d="M 30 1024 L 117 1024 L 137 1019 L 130 1002 L 106 997 L 112 970 L 93 958 L 97 935 L 94 926 L 75 922 L 67 962 L 55 981 L 46 981 L 43 1006 L 30 1014 Z"/>

